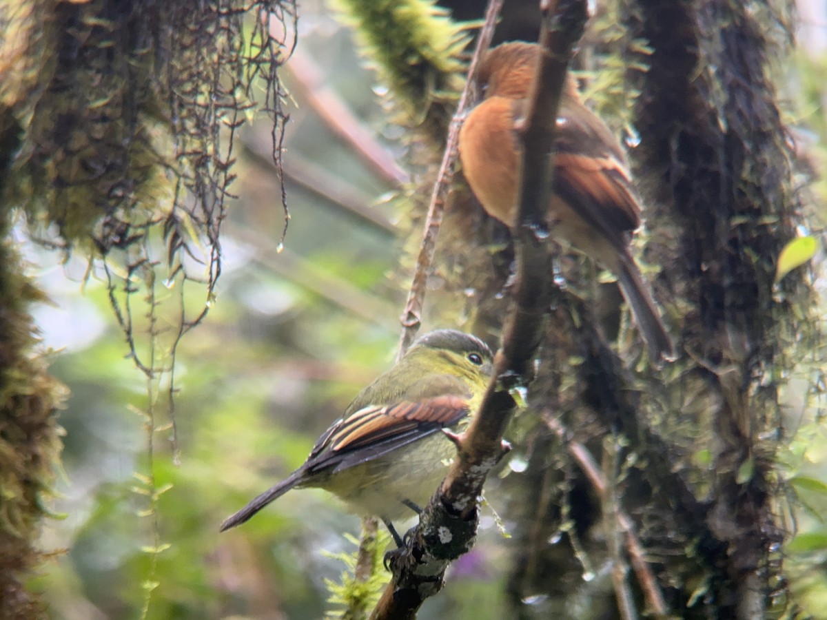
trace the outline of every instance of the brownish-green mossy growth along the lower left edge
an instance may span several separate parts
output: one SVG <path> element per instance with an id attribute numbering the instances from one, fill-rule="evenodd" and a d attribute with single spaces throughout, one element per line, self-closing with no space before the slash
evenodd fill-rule
<path id="1" fill-rule="evenodd" d="M 3 227 L 3 231 L 6 227 Z M 29 303 L 42 295 L 22 275 L 20 255 L 0 244 L 0 618 L 39 618 L 22 582 L 40 562 L 39 523 L 60 460 L 55 410 L 65 387 L 46 374 Z"/>

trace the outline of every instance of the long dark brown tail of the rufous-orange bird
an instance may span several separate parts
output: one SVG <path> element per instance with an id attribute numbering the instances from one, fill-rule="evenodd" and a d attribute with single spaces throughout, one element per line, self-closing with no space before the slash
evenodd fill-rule
<path id="1" fill-rule="evenodd" d="M 653 362 L 659 365 L 661 360 L 674 360 L 676 355 L 672 338 L 667 333 L 666 327 L 663 327 L 652 294 L 649 293 L 648 286 L 643 281 L 638 265 L 635 265 L 628 252 L 619 256 L 615 275 L 617 275 L 626 303 L 629 303 L 629 308 L 632 309 L 641 336 L 646 341 Z"/>

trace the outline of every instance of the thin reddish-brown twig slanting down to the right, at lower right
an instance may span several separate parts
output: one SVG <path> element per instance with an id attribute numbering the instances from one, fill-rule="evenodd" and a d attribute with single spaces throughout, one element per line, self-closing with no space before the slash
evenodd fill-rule
<path id="1" fill-rule="evenodd" d="M 605 478 L 600 475 L 600 468 L 597 466 L 594 457 L 588 451 L 586 446 L 578 441 L 572 441 L 566 428 L 553 417 L 551 413 L 546 413 L 543 416 L 547 427 L 557 434 L 566 446 L 566 450 L 580 465 L 586 478 L 589 479 L 591 485 L 597 491 L 601 500 L 608 493 Z M 626 537 L 626 551 L 629 553 L 629 560 L 632 563 L 632 569 L 635 576 L 638 578 L 638 584 L 643 589 L 643 594 L 646 597 L 646 602 L 650 611 L 657 614 L 659 618 L 667 617 L 667 605 L 663 600 L 663 594 L 660 586 L 657 585 L 657 579 L 649 569 L 648 561 L 646 560 L 646 551 L 643 550 L 643 545 L 638 541 L 638 537 L 634 532 L 634 524 L 631 517 L 624 513 L 619 508 L 615 511 L 617 516 L 617 524 L 619 525 L 624 536 Z"/>

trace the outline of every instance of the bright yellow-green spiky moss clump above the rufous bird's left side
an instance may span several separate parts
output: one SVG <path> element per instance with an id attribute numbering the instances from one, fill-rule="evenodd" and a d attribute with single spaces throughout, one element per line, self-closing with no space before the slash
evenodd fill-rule
<path id="1" fill-rule="evenodd" d="M 465 66 L 458 60 L 468 44 L 466 26 L 433 0 L 332 0 L 351 21 L 361 53 L 379 71 L 401 112 L 402 125 L 415 126 L 438 147 L 457 107 Z"/>

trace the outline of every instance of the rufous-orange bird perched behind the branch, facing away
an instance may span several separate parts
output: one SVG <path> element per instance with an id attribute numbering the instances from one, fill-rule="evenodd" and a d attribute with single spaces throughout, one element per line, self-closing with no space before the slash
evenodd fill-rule
<path id="1" fill-rule="evenodd" d="M 504 43 L 489 50 L 477 74 L 484 100 L 460 131 L 462 171 L 490 216 L 514 227 L 519 183 L 519 141 L 539 48 Z M 548 205 L 552 236 L 609 269 L 618 279 L 654 363 L 674 360 L 675 349 L 643 275 L 629 253 L 641 224 L 641 202 L 629 163 L 609 127 L 581 101 L 567 77 L 557 113 L 554 193 Z"/>

